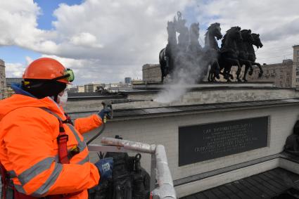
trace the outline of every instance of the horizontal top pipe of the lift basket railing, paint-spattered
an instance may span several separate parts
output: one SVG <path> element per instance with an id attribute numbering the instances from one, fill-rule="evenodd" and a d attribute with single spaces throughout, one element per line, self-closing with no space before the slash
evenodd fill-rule
<path id="1" fill-rule="evenodd" d="M 113 139 L 103 137 L 101 143 L 105 145 L 121 146 L 130 150 L 137 150 L 143 153 L 155 153 L 155 145 L 149 145 L 147 143 L 141 143 L 136 141 L 127 141 L 123 139 Z"/>

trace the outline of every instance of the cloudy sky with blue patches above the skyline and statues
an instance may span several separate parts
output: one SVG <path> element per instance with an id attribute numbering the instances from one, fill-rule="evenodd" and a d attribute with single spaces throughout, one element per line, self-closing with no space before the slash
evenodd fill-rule
<path id="1" fill-rule="evenodd" d="M 28 63 L 57 58 L 75 71 L 75 84 L 141 78 L 167 43 L 167 20 L 181 11 L 199 22 L 200 43 L 211 23 L 222 34 L 239 25 L 259 33 L 260 63 L 292 58 L 299 44 L 298 0 L 10 0 L 0 1 L 0 58 L 6 77 L 21 77 Z"/>

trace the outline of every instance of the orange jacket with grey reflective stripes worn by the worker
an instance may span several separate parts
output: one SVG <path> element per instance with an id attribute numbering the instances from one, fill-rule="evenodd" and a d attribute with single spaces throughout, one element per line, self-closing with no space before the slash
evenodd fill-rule
<path id="1" fill-rule="evenodd" d="M 79 118 L 75 127 L 63 124 L 68 134 L 68 150 L 79 148 L 70 164 L 63 165 L 58 163 L 58 119 L 42 108 L 66 119 L 63 110 L 49 97 L 37 99 L 15 94 L 0 101 L 0 162 L 20 193 L 42 197 L 82 191 L 70 198 L 88 198 L 87 188 L 96 186 L 100 176 L 96 166 L 89 162 L 89 151 L 81 134 L 99 127 L 100 117 Z"/>

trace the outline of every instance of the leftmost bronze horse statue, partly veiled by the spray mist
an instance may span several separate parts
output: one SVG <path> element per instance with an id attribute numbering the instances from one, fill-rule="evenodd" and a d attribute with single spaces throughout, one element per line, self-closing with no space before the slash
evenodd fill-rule
<path id="1" fill-rule="evenodd" d="M 159 63 L 161 69 L 161 82 L 167 75 L 172 74 L 174 62 L 177 55 L 177 34 L 175 24 L 167 22 L 168 43 L 159 53 Z"/>

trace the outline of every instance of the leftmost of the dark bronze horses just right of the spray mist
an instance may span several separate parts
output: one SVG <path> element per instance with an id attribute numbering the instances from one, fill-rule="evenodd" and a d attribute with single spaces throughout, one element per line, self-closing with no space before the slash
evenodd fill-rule
<path id="1" fill-rule="evenodd" d="M 210 60 L 208 61 L 208 65 L 211 66 L 208 73 L 208 82 L 214 82 L 215 78 L 220 79 L 220 66 L 218 63 L 220 48 L 217 43 L 217 40 L 220 39 L 222 39 L 220 23 L 211 24 L 210 27 L 208 27 L 208 31 L 205 33 L 204 47 L 204 51 L 210 58 Z"/>

